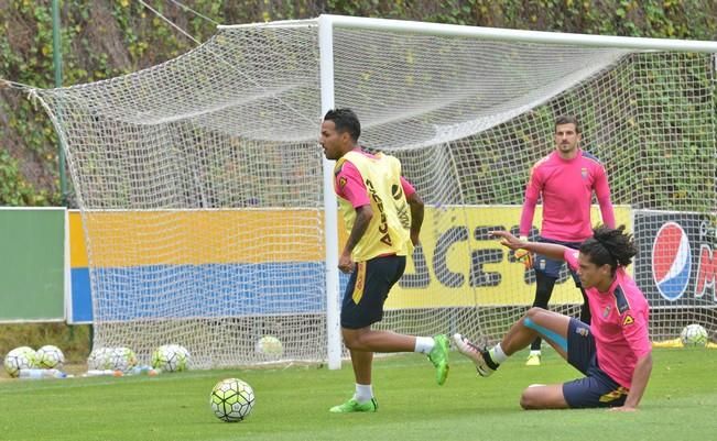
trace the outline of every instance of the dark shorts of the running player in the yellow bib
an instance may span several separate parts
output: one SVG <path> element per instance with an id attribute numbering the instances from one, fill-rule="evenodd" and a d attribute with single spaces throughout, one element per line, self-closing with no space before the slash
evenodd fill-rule
<path id="1" fill-rule="evenodd" d="M 341 328 L 360 329 L 383 319 L 383 304 L 405 269 L 405 256 L 358 262 L 344 293 Z"/>

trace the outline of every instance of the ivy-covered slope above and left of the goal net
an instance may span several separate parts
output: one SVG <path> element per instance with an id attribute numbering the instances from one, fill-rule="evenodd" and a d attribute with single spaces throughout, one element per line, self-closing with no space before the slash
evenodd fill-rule
<path id="1" fill-rule="evenodd" d="M 51 4 L 51 0 L 0 0 L 0 26 L 6 35 L 0 38 L 0 78 L 40 88 L 54 86 Z M 321 13 L 588 34 L 717 38 L 717 3 L 711 0 L 186 0 L 148 4 L 198 41 L 208 38 L 217 23 L 305 19 Z M 64 85 L 135 71 L 196 45 L 138 1 L 64 0 L 61 20 Z M 61 205 L 54 130 L 42 109 L 14 89 L 0 89 L 0 205 Z M 676 197 L 685 194 L 680 188 L 674 191 Z"/>

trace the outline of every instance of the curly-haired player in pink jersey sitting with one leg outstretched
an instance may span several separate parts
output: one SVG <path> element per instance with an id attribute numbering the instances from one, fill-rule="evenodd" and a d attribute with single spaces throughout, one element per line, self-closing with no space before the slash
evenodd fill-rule
<path id="1" fill-rule="evenodd" d="M 593 321 L 531 308 L 502 341 L 490 350 L 454 335 L 458 351 L 472 360 L 478 374 L 491 375 L 517 351 L 542 337 L 563 359 L 586 376 L 564 384 L 539 385 L 523 390 L 524 409 L 613 407 L 635 410 L 652 372 L 648 335 L 649 307 L 626 267 L 637 254 L 624 227 L 599 227 L 578 251 L 567 246 L 524 242 L 506 231 L 493 232 L 511 250 L 528 250 L 562 258 L 577 272 L 587 294 Z"/>

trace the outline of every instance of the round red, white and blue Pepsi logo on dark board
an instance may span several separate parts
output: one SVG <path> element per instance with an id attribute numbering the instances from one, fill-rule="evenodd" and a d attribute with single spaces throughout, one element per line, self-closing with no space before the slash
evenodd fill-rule
<path id="1" fill-rule="evenodd" d="M 666 222 L 652 243 L 652 277 L 662 297 L 667 300 L 682 297 L 691 272 L 689 239 L 678 223 Z"/>

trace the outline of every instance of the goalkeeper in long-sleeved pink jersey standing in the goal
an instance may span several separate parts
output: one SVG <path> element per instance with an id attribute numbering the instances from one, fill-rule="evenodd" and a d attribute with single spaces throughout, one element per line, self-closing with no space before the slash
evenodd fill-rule
<path id="1" fill-rule="evenodd" d="M 521 239 L 526 239 L 530 233 L 535 206 L 541 198 L 543 223 L 537 242 L 556 243 L 577 250 L 583 241 L 593 235 L 590 203 L 594 191 L 600 205 L 602 223 L 615 228 L 615 213 L 605 168 L 595 156 L 583 151 L 579 144 L 580 130 L 577 119 L 569 115 L 558 117 L 555 120 L 555 151 L 535 163 L 531 169 L 520 217 Z M 525 250 L 517 251 L 515 257 L 522 260 L 526 268 L 535 269 L 533 307 L 547 309 L 564 262 L 543 254 L 533 256 Z M 575 272 L 571 273 L 575 286 L 583 294 L 580 321 L 590 324 L 590 309 L 585 289 Z M 526 365 L 540 365 L 541 342 L 540 337 L 532 342 Z"/>

